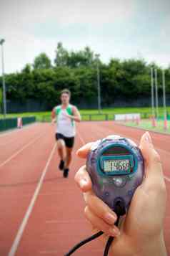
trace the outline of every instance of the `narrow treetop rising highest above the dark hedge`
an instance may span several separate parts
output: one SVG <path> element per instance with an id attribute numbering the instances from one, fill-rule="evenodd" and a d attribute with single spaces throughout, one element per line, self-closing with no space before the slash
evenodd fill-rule
<path id="1" fill-rule="evenodd" d="M 56 67 L 68 66 L 69 52 L 63 47 L 63 44 L 59 42 L 56 48 L 55 64 Z"/>

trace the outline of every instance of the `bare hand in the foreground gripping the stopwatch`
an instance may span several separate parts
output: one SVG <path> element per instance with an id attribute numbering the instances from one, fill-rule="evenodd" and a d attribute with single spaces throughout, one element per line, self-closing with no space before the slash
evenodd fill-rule
<path id="1" fill-rule="evenodd" d="M 77 155 L 86 158 L 93 143 L 79 149 Z M 116 214 L 93 192 L 91 179 L 83 166 L 75 181 L 84 194 L 86 219 L 94 232 L 104 232 L 102 242 L 114 236 L 110 255 L 114 256 L 166 256 L 163 222 L 166 211 L 166 186 L 159 154 L 155 151 L 148 132 L 141 137 L 139 148 L 144 156 L 145 178 L 139 186 L 129 211 L 119 229 L 114 225 Z"/>

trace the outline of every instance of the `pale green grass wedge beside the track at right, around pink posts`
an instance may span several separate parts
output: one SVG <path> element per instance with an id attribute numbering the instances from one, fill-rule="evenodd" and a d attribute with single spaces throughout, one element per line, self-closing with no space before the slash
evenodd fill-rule
<path id="1" fill-rule="evenodd" d="M 151 124 L 151 120 L 141 120 L 139 125 L 136 124 L 136 122 L 132 122 L 132 121 L 129 121 L 129 122 L 119 122 L 119 123 L 123 123 L 124 125 L 127 125 L 127 126 L 132 126 L 132 127 L 136 127 L 136 128 L 143 128 L 147 131 L 156 131 L 156 132 L 159 132 L 159 133 L 168 133 L 170 134 L 170 120 L 168 121 L 168 129 L 167 131 L 164 130 L 164 120 L 159 120 L 157 121 L 157 125 L 156 127 L 152 127 L 152 124 Z"/>

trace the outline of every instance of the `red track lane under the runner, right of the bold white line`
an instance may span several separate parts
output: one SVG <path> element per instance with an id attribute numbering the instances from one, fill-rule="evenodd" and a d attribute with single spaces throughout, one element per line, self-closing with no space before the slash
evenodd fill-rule
<path id="1" fill-rule="evenodd" d="M 89 134 L 89 140 L 91 141 L 94 136 L 95 131 Z M 84 160 L 76 156 L 76 150 L 84 143 L 82 133 L 81 137 L 76 136 L 74 161 L 71 163 L 69 179 L 64 179 L 62 172 L 58 170 L 57 153 L 52 158 L 16 255 L 63 256 L 76 242 L 91 235 L 91 227 L 84 218 L 84 200 L 74 182 L 77 169 L 84 164 Z M 103 247 L 96 240 L 82 247 L 75 255 L 84 256 L 89 253 L 99 256 L 102 252 Z"/>

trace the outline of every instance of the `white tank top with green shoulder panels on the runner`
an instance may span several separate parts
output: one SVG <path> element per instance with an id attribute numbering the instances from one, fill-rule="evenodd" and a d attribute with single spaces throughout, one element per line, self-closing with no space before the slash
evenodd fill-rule
<path id="1" fill-rule="evenodd" d="M 55 108 L 56 113 L 56 133 L 61 133 L 65 137 L 74 137 L 76 135 L 76 127 L 74 120 L 66 115 L 73 115 L 72 105 L 62 109 L 61 105 Z"/>

